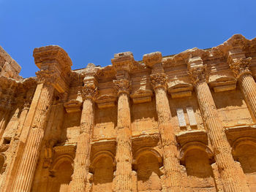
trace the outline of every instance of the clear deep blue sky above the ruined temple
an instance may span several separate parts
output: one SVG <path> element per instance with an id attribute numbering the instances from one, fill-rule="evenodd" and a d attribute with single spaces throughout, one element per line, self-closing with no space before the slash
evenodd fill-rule
<path id="1" fill-rule="evenodd" d="M 256 37 L 255 0 L 0 0 L 0 45 L 23 77 L 38 70 L 35 47 L 59 45 L 80 69 L 110 65 L 124 51 L 139 61 L 214 47 L 233 34 Z"/>

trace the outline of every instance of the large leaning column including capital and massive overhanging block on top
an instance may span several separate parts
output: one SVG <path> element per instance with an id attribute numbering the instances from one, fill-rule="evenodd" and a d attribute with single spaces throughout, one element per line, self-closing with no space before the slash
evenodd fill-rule
<path id="1" fill-rule="evenodd" d="M 17 192 L 31 190 L 53 92 L 55 88 L 62 93 L 67 91 L 66 82 L 72 65 L 67 53 L 59 46 L 35 49 L 34 61 L 41 70 L 37 72 L 38 85 L 23 126 L 28 136 L 26 139 L 20 136 L 26 143 L 11 190 Z"/>

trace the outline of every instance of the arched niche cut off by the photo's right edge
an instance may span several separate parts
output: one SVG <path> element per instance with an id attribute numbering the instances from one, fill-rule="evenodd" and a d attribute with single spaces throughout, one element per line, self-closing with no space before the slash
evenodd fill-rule
<path id="1" fill-rule="evenodd" d="M 243 137 L 233 143 L 233 158 L 239 161 L 250 191 L 256 191 L 256 139 Z"/>

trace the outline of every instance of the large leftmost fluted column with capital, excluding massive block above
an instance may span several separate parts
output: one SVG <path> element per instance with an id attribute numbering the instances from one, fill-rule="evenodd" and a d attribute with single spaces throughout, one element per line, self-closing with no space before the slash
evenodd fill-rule
<path id="1" fill-rule="evenodd" d="M 53 97 L 54 88 L 50 85 L 50 82 L 54 79 L 54 75 L 56 74 L 48 71 L 37 72 L 39 79 L 42 77 L 36 91 L 39 92 L 39 96 L 35 95 L 33 98 L 33 100 L 37 100 L 35 101 L 37 102 L 37 108 L 34 112 L 31 129 L 20 159 L 12 191 L 21 192 L 30 191 L 31 189 L 39 158 L 39 147 L 44 136 L 45 124 Z M 45 78 L 46 76 L 50 78 Z"/>

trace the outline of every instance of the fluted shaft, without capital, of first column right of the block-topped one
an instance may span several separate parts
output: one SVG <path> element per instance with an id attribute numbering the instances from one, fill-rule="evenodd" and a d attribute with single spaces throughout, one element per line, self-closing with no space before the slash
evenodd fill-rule
<path id="1" fill-rule="evenodd" d="M 83 111 L 80 120 L 80 135 L 75 153 L 74 173 L 72 175 L 71 191 L 85 191 L 86 177 L 89 173 L 91 153 L 91 137 L 94 127 L 94 108 L 91 99 L 83 101 Z"/>

